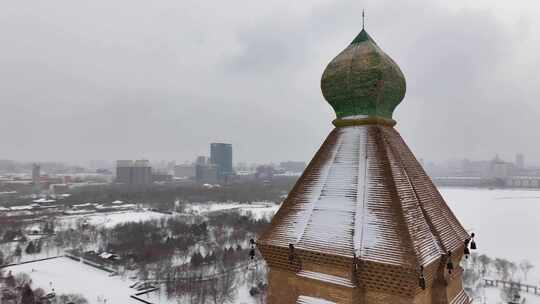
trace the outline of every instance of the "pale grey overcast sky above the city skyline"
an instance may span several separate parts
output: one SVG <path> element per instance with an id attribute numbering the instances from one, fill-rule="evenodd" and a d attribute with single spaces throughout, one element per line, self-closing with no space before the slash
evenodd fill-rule
<path id="1" fill-rule="evenodd" d="M 0 159 L 307 161 L 363 8 L 418 158 L 540 162 L 538 4 L 433 0 L 0 0 Z"/>

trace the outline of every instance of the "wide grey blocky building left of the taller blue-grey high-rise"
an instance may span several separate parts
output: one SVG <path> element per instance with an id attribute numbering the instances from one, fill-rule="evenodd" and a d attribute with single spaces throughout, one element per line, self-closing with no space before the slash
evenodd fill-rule
<path id="1" fill-rule="evenodd" d="M 152 183 L 152 167 L 148 160 L 119 160 L 116 162 L 116 182 L 130 186 Z"/>

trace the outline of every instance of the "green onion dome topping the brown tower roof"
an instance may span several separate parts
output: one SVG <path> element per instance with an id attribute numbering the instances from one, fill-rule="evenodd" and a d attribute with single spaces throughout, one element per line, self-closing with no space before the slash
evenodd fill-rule
<path id="1" fill-rule="evenodd" d="M 405 96 L 399 66 L 362 29 L 351 44 L 326 67 L 321 79 L 324 98 L 338 120 L 392 120 Z"/>

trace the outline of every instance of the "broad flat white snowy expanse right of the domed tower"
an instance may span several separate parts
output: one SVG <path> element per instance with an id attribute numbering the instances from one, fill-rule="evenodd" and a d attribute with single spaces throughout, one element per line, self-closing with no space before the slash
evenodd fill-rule
<path id="1" fill-rule="evenodd" d="M 540 285 L 540 191 L 439 189 L 462 225 L 476 233 L 477 252 L 535 268 L 529 284 Z"/>

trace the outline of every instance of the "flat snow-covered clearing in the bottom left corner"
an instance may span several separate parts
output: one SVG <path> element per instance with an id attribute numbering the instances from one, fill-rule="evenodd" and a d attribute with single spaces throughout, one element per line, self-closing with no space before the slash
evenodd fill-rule
<path id="1" fill-rule="evenodd" d="M 129 288 L 132 281 L 110 277 L 103 270 L 69 258 L 12 266 L 6 272 L 10 270 L 14 274 L 24 272 L 30 275 L 33 288 L 43 288 L 46 292 L 52 292 L 54 288 L 56 294 L 81 294 L 91 304 L 140 303 L 129 297 L 135 293 L 134 289 Z"/>

